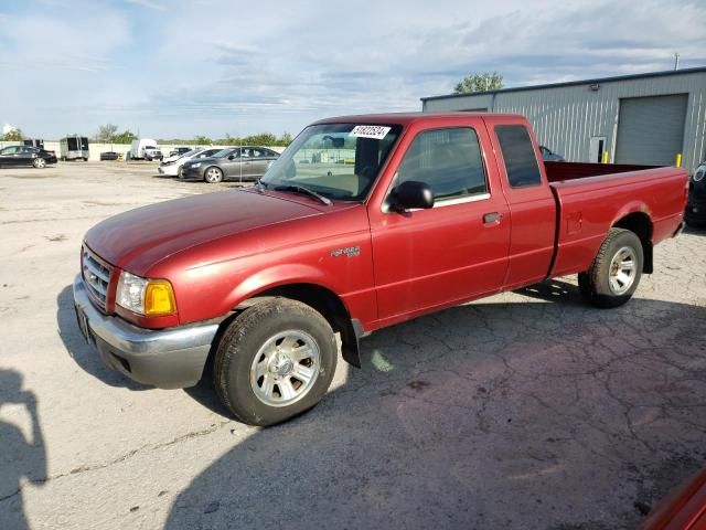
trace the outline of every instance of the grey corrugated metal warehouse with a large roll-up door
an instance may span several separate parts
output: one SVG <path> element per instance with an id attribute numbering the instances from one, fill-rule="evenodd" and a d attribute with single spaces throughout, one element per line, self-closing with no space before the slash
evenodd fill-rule
<path id="1" fill-rule="evenodd" d="M 422 97 L 424 112 L 516 113 L 571 161 L 682 166 L 706 159 L 706 67 Z"/>

